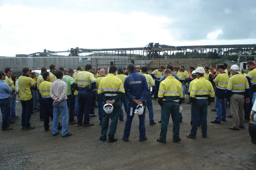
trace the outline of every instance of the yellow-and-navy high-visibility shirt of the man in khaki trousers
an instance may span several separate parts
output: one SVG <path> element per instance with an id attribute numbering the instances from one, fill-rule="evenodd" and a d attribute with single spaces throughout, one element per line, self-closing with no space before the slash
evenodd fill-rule
<path id="1" fill-rule="evenodd" d="M 228 80 L 227 90 L 233 93 L 236 93 L 236 94 L 245 93 L 245 89 L 248 89 L 248 88 L 249 88 L 249 83 L 243 75 L 234 74 Z"/>

